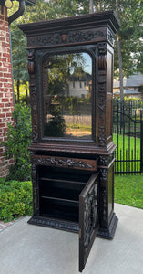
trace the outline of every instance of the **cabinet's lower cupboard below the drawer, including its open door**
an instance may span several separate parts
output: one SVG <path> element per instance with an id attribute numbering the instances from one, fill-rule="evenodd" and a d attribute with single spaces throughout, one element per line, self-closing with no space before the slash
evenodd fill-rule
<path id="1" fill-rule="evenodd" d="M 34 215 L 28 223 L 78 233 L 80 272 L 95 237 L 111 239 L 115 234 L 112 162 L 95 171 L 51 167 L 41 161 L 32 165 Z"/>

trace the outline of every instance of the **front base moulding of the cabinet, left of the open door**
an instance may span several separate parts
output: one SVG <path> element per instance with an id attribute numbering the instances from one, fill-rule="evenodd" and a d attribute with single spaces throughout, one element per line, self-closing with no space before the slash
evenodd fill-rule
<path id="1" fill-rule="evenodd" d="M 67 222 L 65 220 L 58 220 L 58 219 L 48 218 L 44 216 L 32 216 L 27 223 L 31 225 L 51 227 L 51 228 L 71 231 L 75 233 L 78 233 L 79 231 L 78 223 Z"/>

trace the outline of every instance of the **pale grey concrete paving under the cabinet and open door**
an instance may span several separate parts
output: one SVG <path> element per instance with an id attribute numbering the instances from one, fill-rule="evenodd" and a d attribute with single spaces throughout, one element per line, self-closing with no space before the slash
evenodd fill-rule
<path id="1" fill-rule="evenodd" d="M 96 238 L 83 274 L 143 273 L 143 210 L 115 205 L 113 240 Z M 78 235 L 27 224 L 28 216 L 0 232 L 0 274 L 77 274 Z"/>

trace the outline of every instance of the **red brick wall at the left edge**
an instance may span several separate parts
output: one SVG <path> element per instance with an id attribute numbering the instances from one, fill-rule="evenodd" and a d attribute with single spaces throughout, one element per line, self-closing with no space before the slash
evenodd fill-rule
<path id="1" fill-rule="evenodd" d="M 7 9 L 0 5 L 0 140 L 6 141 L 7 122 L 12 121 L 14 109 L 12 71 Z M 8 174 L 13 160 L 5 160 L 5 147 L 0 145 L 0 177 Z"/>

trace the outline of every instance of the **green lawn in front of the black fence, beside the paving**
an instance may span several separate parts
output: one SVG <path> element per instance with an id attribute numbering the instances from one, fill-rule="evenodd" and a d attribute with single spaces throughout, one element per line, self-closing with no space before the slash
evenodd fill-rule
<path id="1" fill-rule="evenodd" d="M 115 176 L 115 203 L 143 209 L 143 175 Z"/>

